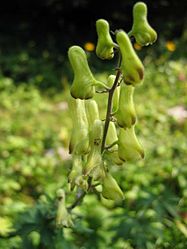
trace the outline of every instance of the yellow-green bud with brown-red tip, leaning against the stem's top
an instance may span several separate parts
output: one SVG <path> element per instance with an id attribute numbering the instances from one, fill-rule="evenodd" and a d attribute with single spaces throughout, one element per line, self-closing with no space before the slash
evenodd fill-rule
<path id="1" fill-rule="evenodd" d="M 124 82 L 127 85 L 136 86 L 143 80 L 144 66 L 134 51 L 128 35 L 124 31 L 117 32 L 116 40 L 122 55 L 120 69 L 124 77 Z"/>

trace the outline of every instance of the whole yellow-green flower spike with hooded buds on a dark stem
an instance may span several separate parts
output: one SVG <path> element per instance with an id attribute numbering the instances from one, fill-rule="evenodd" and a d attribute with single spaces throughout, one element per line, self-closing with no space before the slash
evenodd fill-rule
<path id="1" fill-rule="evenodd" d="M 147 20 L 146 4 L 137 2 L 134 5 L 133 25 L 128 33 L 122 28 L 111 32 L 104 19 L 96 21 L 96 32 L 96 55 L 101 60 L 118 56 L 118 65 L 115 75 L 109 75 L 107 82 L 100 82 L 90 70 L 84 49 L 73 45 L 68 50 L 74 73 L 69 103 L 73 129 L 69 143 L 72 166 L 68 183 L 70 191 L 78 197 L 66 208 L 64 190 L 57 191 L 56 220 L 60 227 L 73 225 L 71 210 L 90 191 L 96 191 L 106 201 L 123 201 L 125 190 L 112 176 L 110 166 L 144 158 L 144 148 L 136 135 L 137 114 L 133 99 L 136 88 L 144 81 L 144 66 L 131 38 L 140 46 L 151 45 L 157 39 Z M 101 120 L 98 104 L 93 99 L 95 94 L 102 93 L 108 93 L 105 120 Z"/>

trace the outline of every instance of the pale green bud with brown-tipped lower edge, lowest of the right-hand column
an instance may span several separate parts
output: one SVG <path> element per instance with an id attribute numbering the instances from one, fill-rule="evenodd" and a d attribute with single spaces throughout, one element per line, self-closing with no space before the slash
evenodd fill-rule
<path id="1" fill-rule="evenodd" d="M 123 161 L 136 161 L 144 158 L 144 150 L 136 137 L 134 126 L 126 129 L 120 128 L 118 154 Z"/>

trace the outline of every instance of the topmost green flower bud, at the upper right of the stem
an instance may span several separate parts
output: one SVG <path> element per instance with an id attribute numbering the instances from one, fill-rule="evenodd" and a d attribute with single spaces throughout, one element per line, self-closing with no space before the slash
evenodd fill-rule
<path id="1" fill-rule="evenodd" d="M 153 44 L 157 39 L 156 31 L 149 25 L 147 20 L 147 5 L 138 2 L 133 8 L 133 26 L 129 36 L 134 36 L 141 46 Z"/>

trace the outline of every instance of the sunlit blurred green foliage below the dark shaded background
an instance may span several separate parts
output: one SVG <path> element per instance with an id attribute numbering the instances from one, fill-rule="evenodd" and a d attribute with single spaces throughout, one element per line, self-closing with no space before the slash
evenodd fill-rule
<path id="1" fill-rule="evenodd" d="M 73 212 L 72 231 L 57 231 L 50 220 L 54 193 L 67 184 L 69 171 L 68 160 L 59 154 L 67 150 L 72 127 L 67 92 L 49 97 L 1 78 L 0 213 L 12 221 L 9 233 L 17 234 L 1 238 L 1 248 L 186 248 L 186 228 L 180 223 L 187 225 L 187 125 L 182 113 L 168 114 L 187 105 L 186 62 L 156 61 L 146 67 L 144 85 L 136 93 L 145 160 L 125 163 L 118 172 L 112 167 L 125 201 L 115 207 L 94 195 L 85 197 Z M 103 98 L 97 100 L 101 108 Z"/>

